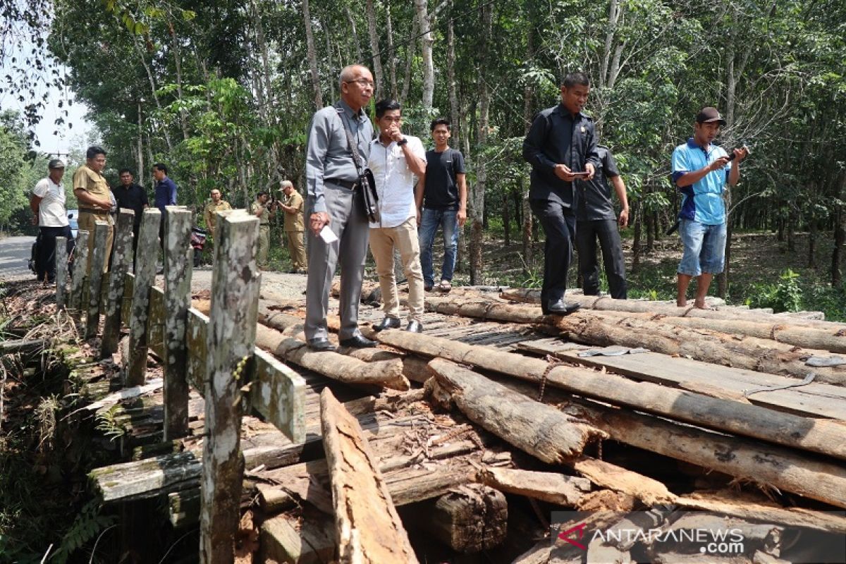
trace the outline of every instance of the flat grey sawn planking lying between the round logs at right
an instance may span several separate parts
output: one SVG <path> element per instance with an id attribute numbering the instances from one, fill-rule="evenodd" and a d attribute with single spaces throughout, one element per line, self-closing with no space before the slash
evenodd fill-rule
<path id="1" fill-rule="evenodd" d="M 662 353 L 624 354 L 616 357 L 593 356 L 580 357 L 579 348 L 568 347 L 572 343 L 558 339 L 531 341 L 519 345 L 519 349 L 533 353 L 552 354 L 576 364 L 583 364 L 596 368 L 604 367 L 610 372 L 629 376 L 635 380 L 655 382 L 669 386 L 679 386 L 684 382 L 695 382 L 718 386 L 729 392 L 741 395 L 745 390 L 763 386 L 785 386 L 796 384 L 795 378 L 788 376 L 770 375 L 753 370 L 744 370 L 708 364 L 700 360 L 671 357 Z M 810 415 L 812 417 L 827 417 L 832 419 L 846 419 L 846 388 L 811 382 L 808 385 L 759 392 L 751 394 L 748 400 L 756 405 L 775 408 L 791 413 Z"/>

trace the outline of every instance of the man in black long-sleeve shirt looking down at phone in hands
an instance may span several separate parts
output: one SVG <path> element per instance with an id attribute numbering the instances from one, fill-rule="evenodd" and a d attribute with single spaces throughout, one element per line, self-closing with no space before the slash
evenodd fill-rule
<path id="1" fill-rule="evenodd" d="M 537 114 L 523 141 L 523 158 L 532 166 L 531 209 L 547 235 L 541 289 L 544 315 L 579 309 L 578 304 L 564 302 L 564 292 L 576 229 L 574 179 L 590 180 L 600 164 L 593 120 L 581 112 L 590 91 L 585 74 L 568 74 L 561 85 L 561 103 Z"/>

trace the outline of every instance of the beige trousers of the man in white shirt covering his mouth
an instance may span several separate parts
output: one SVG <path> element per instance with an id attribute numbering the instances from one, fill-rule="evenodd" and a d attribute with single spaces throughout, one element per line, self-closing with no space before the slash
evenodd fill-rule
<path id="1" fill-rule="evenodd" d="M 409 321 L 420 321 L 423 315 L 423 271 L 420 269 L 417 220 L 409 217 L 397 227 L 371 227 L 370 247 L 373 260 L 376 260 L 385 315 L 399 318 L 397 278 L 393 274 L 393 249 L 397 249 L 405 277 L 409 280 Z"/>

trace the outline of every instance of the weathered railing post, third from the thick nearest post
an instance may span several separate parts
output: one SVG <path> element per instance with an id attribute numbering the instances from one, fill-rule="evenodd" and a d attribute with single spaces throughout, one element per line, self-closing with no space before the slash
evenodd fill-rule
<path id="1" fill-rule="evenodd" d="M 125 386 L 140 386 L 147 370 L 147 316 L 150 308 L 150 287 L 156 280 L 156 259 L 159 223 L 162 212 L 147 209 L 141 216 L 138 248 L 147 249 L 135 257 L 135 277 L 132 286 L 132 308 L 129 317 L 129 363 L 126 366 Z M 155 252 L 151 251 L 153 249 Z"/>

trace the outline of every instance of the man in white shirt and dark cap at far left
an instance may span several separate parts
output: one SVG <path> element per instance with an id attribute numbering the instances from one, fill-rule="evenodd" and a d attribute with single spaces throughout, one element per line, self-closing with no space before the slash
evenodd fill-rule
<path id="1" fill-rule="evenodd" d="M 56 277 L 56 238 L 71 240 L 68 211 L 64 206 L 64 162 L 53 159 L 47 165 L 49 174 L 41 178 L 32 189 L 30 209 L 35 214 L 32 222 L 39 227 L 36 254 L 36 276 L 39 280 L 53 282 Z"/>

